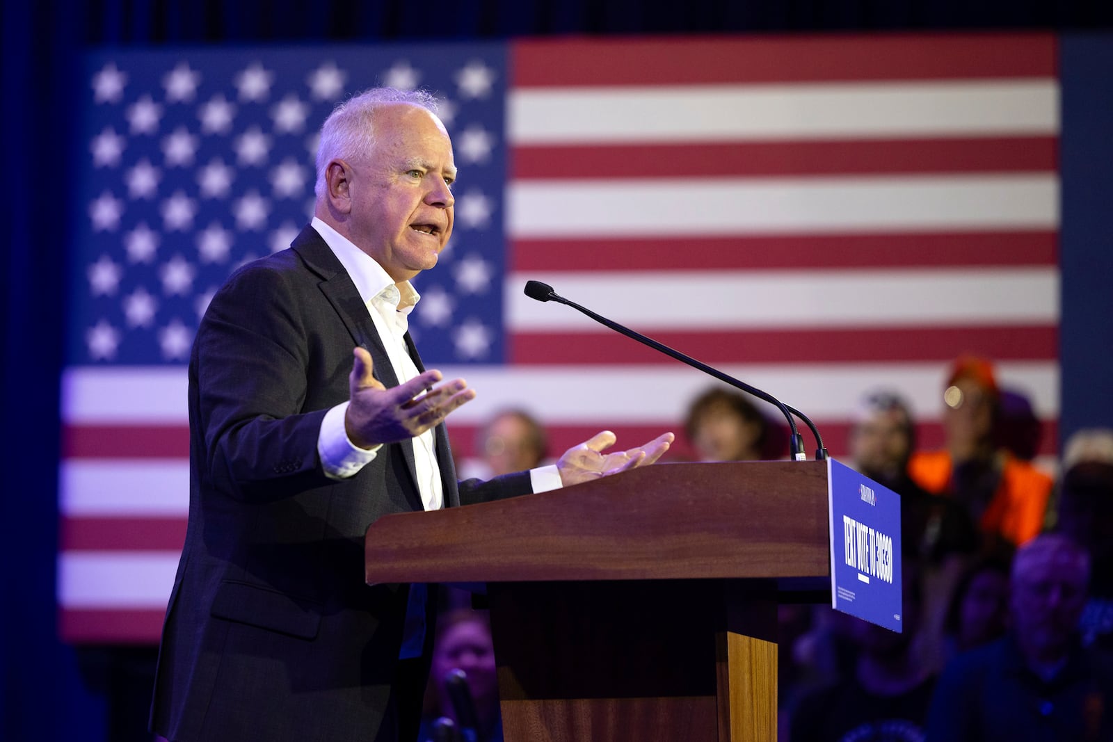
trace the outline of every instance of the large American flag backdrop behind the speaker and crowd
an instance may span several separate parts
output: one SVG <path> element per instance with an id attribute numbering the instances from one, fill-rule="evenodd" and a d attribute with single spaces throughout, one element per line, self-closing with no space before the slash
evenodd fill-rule
<path id="1" fill-rule="evenodd" d="M 105 51 L 75 106 L 58 600 L 71 641 L 158 636 L 188 506 L 186 370 L 207 299 L 312 214 L 315 131 L 374 85 L 444 99 L 456 230 L 420 276 L 426 366 L 523 407 L 552 452 L 680 433 L 711 382 L 536 278 L 809 414 L 860 396 L 942 441 L 965 352 L 1058 416 L 1050 34 L 521 40 Z M 677 454 L 682 456 L 681 443 Z M 812 449 L 814 444 L 808 443 Z"/>

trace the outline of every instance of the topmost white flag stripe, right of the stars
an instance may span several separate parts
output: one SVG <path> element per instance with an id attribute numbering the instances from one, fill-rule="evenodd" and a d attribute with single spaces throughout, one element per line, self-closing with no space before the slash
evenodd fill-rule
<path id="1" fill-rule="evenodd" d="M 514 145 L 1052 135 L 1055 80 L 512 90 Z"/>

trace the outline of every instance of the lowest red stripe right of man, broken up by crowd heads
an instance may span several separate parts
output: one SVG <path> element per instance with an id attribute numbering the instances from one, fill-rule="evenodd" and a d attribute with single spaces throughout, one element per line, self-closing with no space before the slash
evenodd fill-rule
<path id="1" fill-rule="evenodd" d="M 942 400 L 939 404 L 943 404 Z M 819 428 L 819 434 L 824 438 L 824 445 L 827 447 L 828 452 L 830 452 L 830 455 L 844 462 L 849 461 L 847 452 L 850 449 L 850 428 L 853 423 L 849 421 L 814 422 Z M 784 423 L 779 424 L 784 426 Z M 802 423 L 797 423 L 797 426 L 800 429 L 800 434 L 804 436 L 805 448 L 810 457 L 815 454 L 815 439 L 811 437 L 811 433 Z M 450 435 L 452 436 L 453 455 L 457 459 L 476 457 L 477 447 L 475 442 L 480 428 L 477 426 L 452 425 L 449 427 Z M 601 429 L 603 429 L 601 426 L 592 425 L 546 425 L 545 432 L 549 436 L 549 455 L 555 458 L 564 451 L 587 441 Z M 648 423 L 639 425 L 618 425 L 609 426 L 608 429 L 612 431 L 618 436 L 618 443 L 615 444 L 618 448 L 638 446 L 647 441 L 653 439 L 661 433 L 671 431 L 677 435 L 677 442 L 669 449 L 669 453 L 666 454 L 664 461 L 692 461 L 692 448 L 684 438 L 683 421 L 662 421 L 657 424 Z M 787 427 L 781 428 L 780 434 L 787 441 L 786 431 Z M 943 424 L 936 421 L 920 423 L 916 426 L 916 436 L 919 448 L 925 451 L 939 448 L 943 446 L 945 441 Z M 1058 421 L 1043 421 L 1043 435 L 1041 436 L 1038 451 L 1040 455 L 1055 455 L 1057 451 L 1057 441 Z"/>

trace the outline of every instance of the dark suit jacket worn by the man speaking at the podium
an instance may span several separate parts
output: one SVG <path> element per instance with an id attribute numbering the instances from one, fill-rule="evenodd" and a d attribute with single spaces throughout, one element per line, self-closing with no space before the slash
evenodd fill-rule
<path id="1" fill-rule="evenodd" d="M 201 320 L 189 525 L 151 709 L 152 729 L 174 742 L 380 733 L 408 587 L 364 584 L 363 537 L 381 515 L 422 503 L 410 441 L 348 479 L 322 469 L 321 422 L 348 397 L 357 344 L 397 385 L 355 285 L 311 227 L 236 271 Z M 457 488 L 443 426 L 436 447 L 446 506 L 530 492 L 528 474 Z"/>

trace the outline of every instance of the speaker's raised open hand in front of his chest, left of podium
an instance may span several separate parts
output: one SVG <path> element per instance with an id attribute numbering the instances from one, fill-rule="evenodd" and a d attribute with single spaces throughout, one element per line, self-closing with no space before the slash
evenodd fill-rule
<path id="1" fill-rule="evenodd" d="M 365 348 L 355 348 L 353 356 L 344 429 L 348 439 L 361 448 L 421 435 L 475 398 L 475 390 L 469 389 L 462 378 L 434 386 L 442 378 L 436 369 L 387 389 L 372 374 L 373 362 Z"/>

